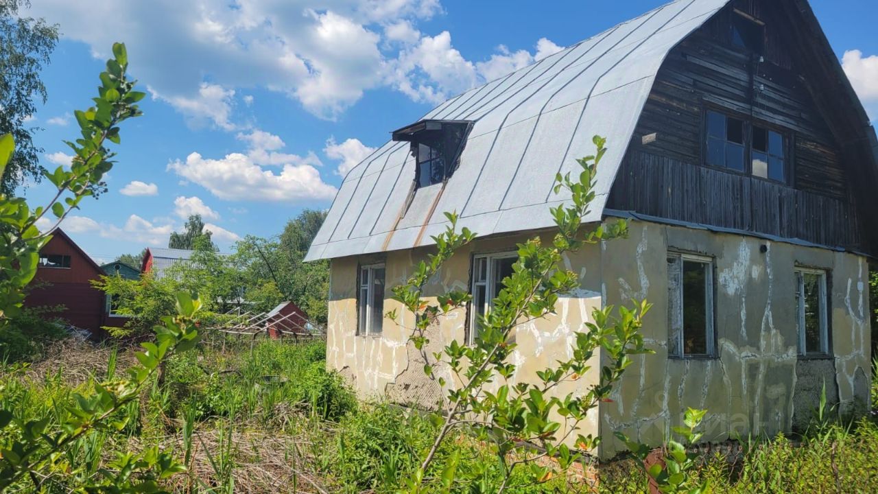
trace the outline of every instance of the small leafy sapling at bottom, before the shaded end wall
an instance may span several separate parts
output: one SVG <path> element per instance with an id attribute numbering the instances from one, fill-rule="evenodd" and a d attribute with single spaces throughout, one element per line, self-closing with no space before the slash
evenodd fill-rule
<path id="1" fill-rule="evenodd" d="M 702 432 L 695 432 L 701 425 L 707 410 L 688 409 L 683 417 L 683 427 L 673 427 L 683 439 L 683 442 L 668 440 L 664 447 L 664 456 L 661 461 L 647 464 L 647 457 L 651 448 L 629 440 L 622 432 L 616 432 L 616 437 L 625 443 L 631 454 L 644 466 L 646 474 L 659 487 L 664 494 L 704 494 L 709 492 L 708 479 L 699 479 L 695 470 L 699 466 L 699 454 L 687 451 L 702 438 Z"/>

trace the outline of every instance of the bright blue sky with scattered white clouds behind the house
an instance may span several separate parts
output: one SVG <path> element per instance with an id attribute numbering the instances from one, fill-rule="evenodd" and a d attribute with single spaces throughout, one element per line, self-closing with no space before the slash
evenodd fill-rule
<path id="1" fill-rule="evenodd" d="M 98 261 L 165 246 L 201 213 L 227 250 L 326 208 L 344 171 L 437 102 L 664 4 L 662 0 L 40 0 L 61 25 L 33 115 L 44 166 L 65 163 L 114 40 L 150 97 L 122 129 L 110 192 L 62 226 Z M 878 115 L 878 3 L 812 0 Z M 104 20 L 99 20 L 104 19 Z M 31 185 L 33 204 L 49 197 Z"/>

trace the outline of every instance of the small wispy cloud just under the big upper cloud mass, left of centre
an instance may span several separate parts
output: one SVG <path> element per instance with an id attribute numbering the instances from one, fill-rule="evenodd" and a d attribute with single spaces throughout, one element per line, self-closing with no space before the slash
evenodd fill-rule
<path id="1" fill-rule="evenodd" d="M 205 127 L 212 123 L 223 130 L 235 128 L 232 123 L 234 90 L 224 89 L 219 84 L 202 83 L 196 94 L 164 96 L 152 86 L 148 88 L 154 99 L 161 99 L 183 113 L 190 127 Z"/>

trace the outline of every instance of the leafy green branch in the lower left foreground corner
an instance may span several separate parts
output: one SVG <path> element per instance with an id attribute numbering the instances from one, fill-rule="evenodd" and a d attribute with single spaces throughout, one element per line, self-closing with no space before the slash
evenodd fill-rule
<path id="1" fill-rule="evenodd" d="M 158 482 L 184 471 L 170 454 L 149 447 L 139 454 L 119 453 L 110 469 L 99 476 L 88 475 L 89 463 L 74 461 L 76 454 L 65 454 L 83 446 L 94 434 L 118 433 L 126 428 L 127 418 L 120 413 L 135 402 L 140 390 L 162 364 L 175 352 L 184 352 L 198 343 L 194 316 L 200 309 L 198 298 L 177 295 L 178 316 L 167 316 L 156 326 L 155 343 L 142 344 L 135 355 L 140 365 L 127 370 L 127 377 L 94 382 L 90 394 L 75 393 L 72 400 L 56 407 L 53 414 L 38 419 L 17 415 L 14 410 L 0 410 L 0 490 L 22 483 L 32 483 L 36 490 L 44 485 L 76 479 L 83 490 L 114 492 L 158 492 Z M 85 469 L 85 471 L 83 471 Z"/>

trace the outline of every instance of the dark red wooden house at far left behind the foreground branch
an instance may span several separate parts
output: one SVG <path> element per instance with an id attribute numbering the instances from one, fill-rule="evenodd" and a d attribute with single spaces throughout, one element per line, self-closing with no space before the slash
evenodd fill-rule
<path id="1" fill-rule="evenodd" d="M 61 229 L 40 250 L 40 266 L 30 285 L 25 307 L 63 306 L 48 313 L 77 328 L 101 335 L 107 325 L 106 295 L 91 286 L 104 271 Z"/>

